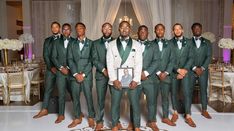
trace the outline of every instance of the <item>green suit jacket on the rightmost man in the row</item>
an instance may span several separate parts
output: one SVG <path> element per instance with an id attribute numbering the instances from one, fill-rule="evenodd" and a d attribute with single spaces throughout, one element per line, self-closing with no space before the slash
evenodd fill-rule
<path id="1" fill-rule="evenodd" d="M 197 48 L 194 38 L 192 40 L 193 47 L 193 55 L 196 59 L 194 59 L 193 66 L 204 67 L 205 70 L 208 70 L 208 66 L 212 57 L 212 48 L 209 40 L 201 37 L 201 45 Z"/>

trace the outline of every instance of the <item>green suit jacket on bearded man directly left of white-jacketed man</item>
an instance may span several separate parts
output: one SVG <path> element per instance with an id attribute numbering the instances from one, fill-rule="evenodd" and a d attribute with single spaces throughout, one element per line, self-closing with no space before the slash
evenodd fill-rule
<path id="1" fill-rule="evenodd" d="M 111 41 L 113 38 L 111 38 Z M 92 60 L 93 65 L 96 67 L 96 79 L 102 79 L 105 78 L 104 74 L 102 73 L 102 70 L 105 68 L 107 69 L 106 65 L 106 46 L 103 41 L 103 38 L 97 39 L 93 42 L 92 47 Z"/>

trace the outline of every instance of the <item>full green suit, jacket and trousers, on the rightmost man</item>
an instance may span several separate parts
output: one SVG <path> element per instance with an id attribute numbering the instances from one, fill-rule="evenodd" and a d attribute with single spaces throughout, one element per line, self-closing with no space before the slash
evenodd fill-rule
<path id="1" fill-rule="evenodd" d="M 211 61 L 212 56 L 212 48 L 209 40 L 201 37 L 200 38 L 201 45 L 199 48 L 196 46 L 196 42 L 194 38 L 192 38 L 193 42 L 193 52 L 194 52 L 194 63 L 192 67 L 201 67 L 204 69 L 201 76 L 197 76 L 194 70 L 192 70 L 192 86 L 195 86 L 196 80 L 199 81 L 200 91 L 201 91 L 201 104 L 202 110 L 207 110 L 207 81 L 208 81 L 208 66 Z"/>

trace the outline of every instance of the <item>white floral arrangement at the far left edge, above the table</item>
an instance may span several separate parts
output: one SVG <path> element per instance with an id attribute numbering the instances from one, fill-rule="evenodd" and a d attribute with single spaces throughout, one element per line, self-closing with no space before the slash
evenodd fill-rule
<path id="1" fill-rule="evenodd" d="M 23 43 L 20 40 L 17 39 L 3 39 L 0 40 L 0 50 L 2 49 L 8 49 L 8 50 L 18 50 L 20 51 L 23 48 Z"/>

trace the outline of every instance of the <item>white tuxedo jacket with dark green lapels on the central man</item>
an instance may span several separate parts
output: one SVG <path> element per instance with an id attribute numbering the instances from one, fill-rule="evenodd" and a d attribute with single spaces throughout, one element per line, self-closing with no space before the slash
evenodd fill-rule
<path id="1" fill-rule="evenodd" d="M 137 82 L 138 85 L 141 82 L 142 72 L 142 49 L 139 42 L 132 39 L 132 49 L 125 63 L 121 66 L 121 57 L 117 48 L 117 41 L 113 40 L 108 44 L 106 61 L 107 70 L 109 74 L 109 84 L 113 85 L 113 81 L 117 80 L 117 68 L 120 67 L 131 67 L 134 69 L 133 81 Z"/>

